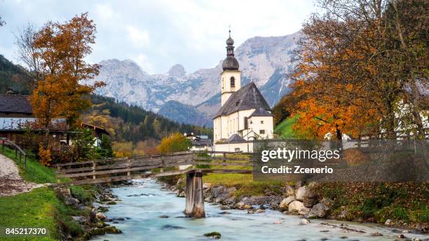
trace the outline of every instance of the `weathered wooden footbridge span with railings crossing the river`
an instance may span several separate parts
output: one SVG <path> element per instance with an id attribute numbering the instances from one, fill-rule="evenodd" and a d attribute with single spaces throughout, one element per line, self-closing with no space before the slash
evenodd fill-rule
<path id="1" fill-rule="evenodd" d="M 233 154 L 233 156 L 230 156 Z M 189 172 L 252 173 L 250 153 L 235 152 L 180 152 L 162 156 L 111 158 L 78 163 L 60 163 L 57 167 L 57 185 L 74 186 L 123 181 L 144 177 L 164 177 Z M 184 170 L 165 170 L 169 167 L 187 167 Z M 170 168 L 171 169 L 171 168 Z M 60 180 L 72 179 L 61 182 Z"/>

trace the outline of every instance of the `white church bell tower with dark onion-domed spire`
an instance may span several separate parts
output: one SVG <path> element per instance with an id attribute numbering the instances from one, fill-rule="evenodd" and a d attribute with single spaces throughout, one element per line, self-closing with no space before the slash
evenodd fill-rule
<path id="1" fill-rule="evenodd" d="M 226 39 L 226 58 L 222 62 L 221 73 L 221 104 L 222 106 L 229 99 L 233 92 L 241 88 L 241 71 L 238 70 L 238 61 L 234 57 L 234 41 L 231 39 L 231 30 L 229 38 Z"/>

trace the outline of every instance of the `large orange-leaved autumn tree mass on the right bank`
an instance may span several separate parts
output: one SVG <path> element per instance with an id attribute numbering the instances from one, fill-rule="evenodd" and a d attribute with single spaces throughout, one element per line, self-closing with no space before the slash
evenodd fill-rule
<path id="1" fill-rule="evenodd" d="M 395 8 L 398 4 L 402 10 Z M 343 132 L 353 137 L 386 132 L 388 138 L 395 138 L 398 129 L 423 134 L 419 123 L 424 107 L 409 96 L 418 95 L 413 83 L 428 83 L 428 51 L 421 37 L 427 27 L 417 24 L 428 8 L 423 1 L 414 4 L 320 1 L 325 14 L 313 15 L 304 25 L 294 73 L 292 95 L 302 99 L 294 110 L 300 117 L 296 130 L 311 138 L 331 133 L 338 139 Z M 409 27 L 410 22 L 416 27 Z M 405 28 L 401 33 L 407 33 L 413 46 L 410 53 L 398 44 L 401 34 L 393 34 Z M 411 113 L 398 118 L 404 103 Z"/>

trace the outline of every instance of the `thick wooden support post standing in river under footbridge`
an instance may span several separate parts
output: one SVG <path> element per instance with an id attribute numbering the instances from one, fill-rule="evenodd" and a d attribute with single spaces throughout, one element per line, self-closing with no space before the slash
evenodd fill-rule
<path id="1" fill-rule="evenodd" d="M 185 215 L 194 218 L 204 218 L 203 173 L 190 172 L 186 174 L 186 207 Z"/>

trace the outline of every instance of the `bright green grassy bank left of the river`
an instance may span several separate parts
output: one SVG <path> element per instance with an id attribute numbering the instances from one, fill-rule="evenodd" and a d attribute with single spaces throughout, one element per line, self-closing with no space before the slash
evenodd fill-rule
<path id="1" fill-rule="evenodd" d="M 45 167 L 34 157 L 27 158 L 27 168 L 23 160 L 15 158 L 15 152 L 5 149 L 4 156 L 8 156 L 20 168 L 20 176 L 26 181 L 36 184 L 55 183 L 55 170 Z M 93 188 L 74 186 L 72 195 L 79 200 L 92 200 Z M 71 216 L 88 215 L 83 211 L 64 204 L 57 198 L 53 188 L 36 188 L 28 193 L 0 198 L 0 226 L 1 227 L 32 227 L 47 228 L 48 237 L 32 237 L 31 240 L 59 240 L 62 234 L 80 236 L 83 228 L 71 219 Z M 3 240 L 4 237 L 2 237 Z M 29 240 L 25 237 L 15 237 L 5 240 Z"/>

